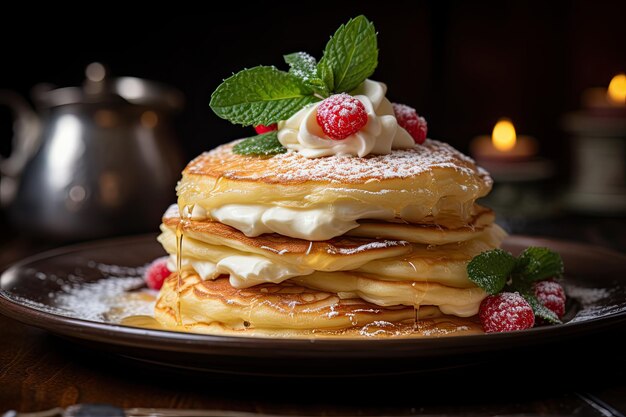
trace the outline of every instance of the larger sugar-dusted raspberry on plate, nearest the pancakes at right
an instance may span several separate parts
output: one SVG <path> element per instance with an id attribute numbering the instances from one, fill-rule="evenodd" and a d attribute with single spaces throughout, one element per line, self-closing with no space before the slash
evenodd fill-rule
<path id="1" fill-rule="evenodd" d="M 480 303 L 478 316 L 487 333 L 524 330 L 535 325 L 533 309 L 517 292 L 488 296 Z"/>

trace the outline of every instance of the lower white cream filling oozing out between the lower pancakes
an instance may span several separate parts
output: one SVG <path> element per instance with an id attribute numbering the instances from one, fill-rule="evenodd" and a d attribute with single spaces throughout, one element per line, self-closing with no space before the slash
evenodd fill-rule
<path id="1" fill-rule="evenodd" d="M 184 267 L 193 268 L 203 280 L 212 280 L 220 275 L 229 275 L 235 288 L 248 288 L 266 282 L 280 283 L 295 276 L 309 275 L 313 269 L 272 261 L 260 255 L 235 255 L 219 262 L 183 258 Z M 176 270 L 176 255 L 170 255 L 168 269 Z"/>

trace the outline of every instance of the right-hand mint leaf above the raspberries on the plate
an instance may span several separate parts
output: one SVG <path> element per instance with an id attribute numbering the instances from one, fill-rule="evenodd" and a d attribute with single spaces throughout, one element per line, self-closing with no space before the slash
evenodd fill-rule
<path id="1" fill-rule="evenodd" d="M 514 274 L 524 281 L 541 281 L 563 275 L 561 255 L 548 249 L 531 246 L 518 257 Z"/>

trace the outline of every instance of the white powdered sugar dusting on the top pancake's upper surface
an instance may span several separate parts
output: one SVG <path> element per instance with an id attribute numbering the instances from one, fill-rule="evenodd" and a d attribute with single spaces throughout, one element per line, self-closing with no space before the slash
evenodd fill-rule
<path id="1" fill-rule="evenodd" d="M 393 150 L 386 155 L 305 158 L 298 152 L 290 151 L 266 159 L 233 154 L 232 147 L 238 142 L 222 145 L 200 155 L 187 166 L 185 172 L 269 183 L 364 183 L 369 180 L 411 178 L 437 169 L 452 169 L 468 179 L 479 177 L 489 186 L 492 183 L 489 174 L 477 167 L 471 158 L 446 143 L 432 139 L 410 149 Z M 247 161 L 242 162 L 242 158 Z"/>

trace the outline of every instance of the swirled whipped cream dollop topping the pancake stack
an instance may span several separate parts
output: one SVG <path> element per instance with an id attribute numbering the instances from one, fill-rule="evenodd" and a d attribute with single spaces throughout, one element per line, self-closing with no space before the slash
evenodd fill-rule
<path id="1" fill-rule="evenodd" d="M 365 156 L 388 154 L 392 149 L 415 146 L 411 135 L 398 125 L 391 102 L 385 97 L 387 86 L 365 80 L 352 95 L 367 111 L 367 124 L 345 139 L 329 139 L 317 123 L 320 102 L 298 111 L 278 125 L 278 140 L 287 149 L 298 151 L 306 158 L 329 155 Z"/>

